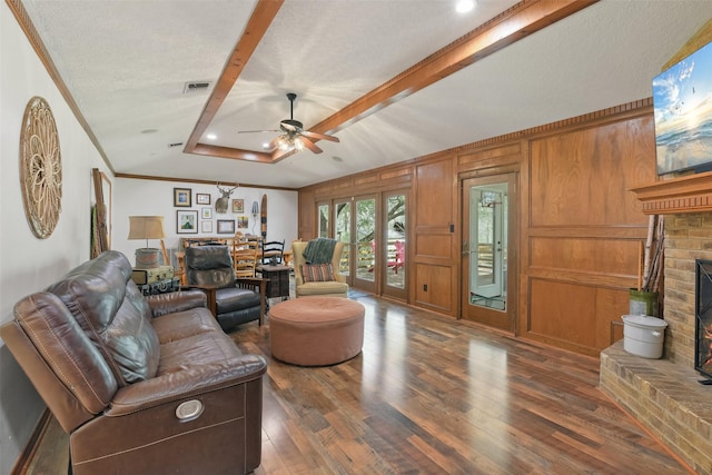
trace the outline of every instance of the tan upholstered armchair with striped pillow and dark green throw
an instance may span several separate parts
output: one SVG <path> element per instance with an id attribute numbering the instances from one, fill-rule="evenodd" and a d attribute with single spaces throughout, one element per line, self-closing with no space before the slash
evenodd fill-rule
<path id="1" fill-rule="evenodd" d="M 295 295 L 297 298 L 319 295 L 325 297 L 347 297 L 348 284 L 346 276 L 339 273 L 339 261 L 342 253 L 344 253 L 344 243 L 333 239 L 318 238 L 320 244 L 333 241 L 333 254 L 328 260 L 326 258 L 319 261 L 307 261 L 305 250 L 309 243 L 294 241 L 291 243 L 291 251 L 294 258 L 294 283 Z M 314 246 L 314 245 L 313 245 Z"/>

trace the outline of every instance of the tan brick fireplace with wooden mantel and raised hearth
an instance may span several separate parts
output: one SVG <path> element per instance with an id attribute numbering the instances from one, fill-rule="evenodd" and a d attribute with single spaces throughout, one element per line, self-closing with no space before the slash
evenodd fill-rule
<path id="1" fill-rule="evenodd" d="M 695 259 L 712 259 L 712 174 L 636 188 L 643 211 L 665 215 L 663 357 L 601 353 L 601 389 L 696 473 L 712 474 L 712 386 L 694 370 Z"/>

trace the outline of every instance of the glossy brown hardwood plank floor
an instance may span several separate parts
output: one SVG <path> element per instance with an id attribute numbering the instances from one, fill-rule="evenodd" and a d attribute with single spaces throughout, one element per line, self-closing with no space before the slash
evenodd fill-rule
<path id="1" fill-rule="evenodd" d="M 269 360 L 255 474 L 691 473 L 597 389 L 597 359 L 357 300 L 364 350 L 340 365 L 274 360 L 268 324 L 231 334 Z"/>

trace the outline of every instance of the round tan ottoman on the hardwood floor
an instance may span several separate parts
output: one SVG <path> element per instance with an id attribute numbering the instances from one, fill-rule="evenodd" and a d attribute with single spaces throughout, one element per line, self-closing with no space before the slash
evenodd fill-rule
<path id="1" fill-rule="evenodd" d="M 300 366 L 345 362 L 364 345 L 365 308 L 342 297 L 301 297 L 269 309 L 271 355 Z"/>

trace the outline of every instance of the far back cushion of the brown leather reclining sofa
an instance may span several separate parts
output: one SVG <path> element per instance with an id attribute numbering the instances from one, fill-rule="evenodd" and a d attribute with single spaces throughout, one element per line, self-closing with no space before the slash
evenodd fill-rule
<path id="1" fill-rule="evenodd" d="M 150 309 L 130 277 L 126 256 L 107 251 L 47 289 L 63 301 L 121 386 L 154 377 L 160 357 Z"/>

